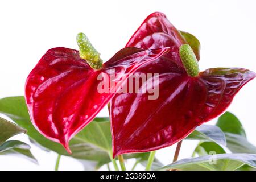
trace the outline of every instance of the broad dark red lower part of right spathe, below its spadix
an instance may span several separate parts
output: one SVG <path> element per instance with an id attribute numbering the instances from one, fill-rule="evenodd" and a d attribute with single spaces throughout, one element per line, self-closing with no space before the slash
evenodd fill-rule
<path id="1" fill-rule="evenodd" d="M 117 94 L 112 99 L 113 156 L 171 146 L 225 111 L 238 90 L 255 77 L 242 68 L 214 68 L 188 77 L 164 59 L 138 72 L 152 69 L 159 73 L 158 99 L 148 100 L 147 93 Z"/>

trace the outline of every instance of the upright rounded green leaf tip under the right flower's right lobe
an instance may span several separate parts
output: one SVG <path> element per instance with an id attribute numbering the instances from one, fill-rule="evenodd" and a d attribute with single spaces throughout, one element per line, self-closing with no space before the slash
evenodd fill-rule
<path id="1" fill-rule="evenodd" d="M 226 112 L 218 118 L 216 126 L 220 127 L 225 133 L 233 133 L 246 137 L 245 129 L 243 129 L 242 123 L 232 113 Z"/>

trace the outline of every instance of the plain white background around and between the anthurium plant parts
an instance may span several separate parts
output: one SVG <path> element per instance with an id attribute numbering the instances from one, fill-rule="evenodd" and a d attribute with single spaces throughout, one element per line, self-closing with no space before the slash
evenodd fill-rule
<path id="1" fill-rule="evenodd" d="M 49 48 L 77 49 L 76 34 L 85 32 L 101 57 L 108 60 L 123 48 L 147 15 L 161 11 L 179 30 L 201 42 L 200 70 L 241 67 L 256 71 L 256 1 L 0 1 L 0 98 L 23 95 L 24 82 Z M 237 115 L 256 145 L 256 80 L 234 98 L 229 111 Z M 108 114 L 106 110 L 100 113 Z M 210 123 L 214 123 L 211 121 Z M 26 135 L 13 139 L 28 142 Z M 189 157 L 197 142 L 185 141 L 180 158 Z M 168 164 L 175 146 L 156 156 Z M 16 156 L 0 156 L 0 169 L 52 170 L 56 153 L 32 145 L 39 165 Z M 134 161 L 128 164 L 128 168 Z M 83 169 L 63 157 L 60 169 Z M 143 169 L 142 167 L 140 169 Z"/>

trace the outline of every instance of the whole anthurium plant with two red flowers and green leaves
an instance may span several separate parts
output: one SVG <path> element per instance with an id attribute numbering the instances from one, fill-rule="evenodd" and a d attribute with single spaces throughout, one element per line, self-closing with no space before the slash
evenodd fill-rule
<path id="1" fill-rule="evenodd" d="M 126 170 L 131 158 L 136 159 L 131 169 L 137 164 L 146 170 L 256 168 L 256 147 L 238 118 L 224 113 L 256 76 L 253 71 L 200 72 L 199 40 L 158 12 L 108 61 L 85 34 L 77 35 L 77 44 L 78 51 L 49 49 L 28 75 L 24 96 L 0 100 L 0 113 L 17 124 L 0 118 L 0 154 L 37 163 L 28 144 L 7 140 L 26 133 L 33 145 L 59 154 L 56 169 L 61 155 L 90 169 L 113 163 L 113 169 Z M 105 106 L 109 117 L 97 117 Z M 218 116 L 216 125 L 204 124 Z M 191 158 L 177 160 L 184 139 L 200 142 Z M 164 166 L 155 152 L 175 143 L 174 160 Z"/>

